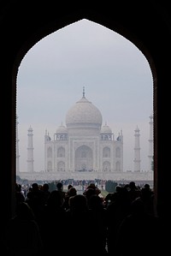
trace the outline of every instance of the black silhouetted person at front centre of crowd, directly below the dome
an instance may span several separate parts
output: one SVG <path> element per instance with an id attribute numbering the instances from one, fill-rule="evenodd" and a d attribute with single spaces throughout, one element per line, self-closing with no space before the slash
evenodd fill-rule
<path id="1" fill-rule="evenodd" d="M 72 198 L 72 207 L 67 211 L 68 235 L 65 253 L 74 255 L 96 253 L 97 247 L 94 237 L 97 235 L 94 227 L 94 219 L 91 217 L 87 206 L 87 199 L 83 194 L 77 194 Z"/>

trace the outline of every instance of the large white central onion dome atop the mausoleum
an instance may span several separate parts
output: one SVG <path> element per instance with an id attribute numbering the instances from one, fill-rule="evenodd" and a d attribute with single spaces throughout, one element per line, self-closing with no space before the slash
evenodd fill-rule
<path id="1" fill-rule="evenodd" d="M 102 114 L 83 92 L 83 97 L 68 110 L 66 125 L 68 128 L 101 128 Z"/>

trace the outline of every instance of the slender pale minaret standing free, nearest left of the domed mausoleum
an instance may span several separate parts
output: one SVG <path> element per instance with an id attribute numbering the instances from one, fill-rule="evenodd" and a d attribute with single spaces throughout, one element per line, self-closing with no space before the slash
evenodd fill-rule
<path id="1" fill-rule="evenodd" d="M 27 146 L 27 172 L 32 173 L 34 171 L 33 169 L 33 140 L 32 140 L 32 128 L 28 129 L 28 146 Z"/>

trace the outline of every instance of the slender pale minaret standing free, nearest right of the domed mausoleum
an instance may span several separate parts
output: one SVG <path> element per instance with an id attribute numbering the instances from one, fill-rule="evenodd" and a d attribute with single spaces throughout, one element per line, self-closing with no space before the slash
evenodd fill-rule
<path id="1" fill-rule="evenodd" d="M 140 171 L 140 162 L 141 162 L 141 160 L 140 160 L 140 146 L 139 146 L 139 136 L 140 136 L 140 134 L 139 134 L 139 128 L 138 127 L 135 129 L 134 136 L 135 136 L 135 147 L 134 147 L 134 160 L 133 160 L 133 162 L 134 162 L 134 171 L 138 172 L 138 171 Z"/>

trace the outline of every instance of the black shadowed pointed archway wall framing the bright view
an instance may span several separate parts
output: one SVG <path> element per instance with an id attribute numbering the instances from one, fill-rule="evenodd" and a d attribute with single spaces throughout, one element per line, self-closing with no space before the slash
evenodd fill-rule
<path id="1" fill-rule="evenodd" d="M 158 205 L 167 209 L 168 159 L 163 153 L 166 140 L 163 140 L 163 123 L 168 110 L 169 97 L 167 86 L 170 82 L 171 57 L 171 13 L 168 3 L 148 1 L 138 5 L 133 2 L 85 3 L 84 7 L 74 3 L 42 2 L 23 5 L 21 0 L 6 2 L 0 8 L 1 29 L 1 102 L 2 134 L 5 136 L 6 149 L 2 159 L 6 163 L 2 172 L 3 190 L 8 190 L 8 199 L 2 199 L 6 209 L 3 218 L 8 219 L 15 212 L 15 109 L 16 79 L 22 58 L 33 45 L 57 29 L 82 18 L 95 21 L 120 33 L 136 45 L 150 63 L 154 91 L 154 186 Z M 164 99 L 164 101 L 163 101 Z M 165 213 L 167 211 L 165 210 Z M 163 214 L 163 213 L 162 213 Z"/>

